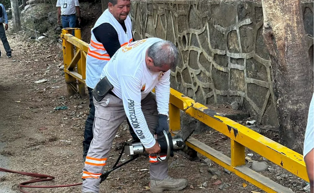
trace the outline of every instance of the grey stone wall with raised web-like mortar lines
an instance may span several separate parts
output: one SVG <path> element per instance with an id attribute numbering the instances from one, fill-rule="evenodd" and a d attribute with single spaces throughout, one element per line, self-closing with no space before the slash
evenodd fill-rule
<path id="1" fill-rule="evenodd" d="M 313 3 L 302 6 L 314 35 Z M 134 39 L 171 40 L 180 50 L 172 88 L 203 104 L 236 101 L 259 123 L 278 125 L 261 3 L 132 0 L 131 16 Z"/>

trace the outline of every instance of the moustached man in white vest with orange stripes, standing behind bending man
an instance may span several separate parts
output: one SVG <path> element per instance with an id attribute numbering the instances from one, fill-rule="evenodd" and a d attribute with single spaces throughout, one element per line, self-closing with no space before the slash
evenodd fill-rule
<path id="1" fill-rule="evenodd" d="M 95 107 L 91 91 L 100 80 L 100 74 L 110 58 L 121 46 L 133 41 L 130 0 L 109 0 L 108 9 L 97 19 L 91 29 L 91 39 L 86 57 L 86 85 L 89 91 L 89 115 L 85 123 L 83 159 L 85 161 L 93 139 Z M 133 138 L 137 138 L 133 130 Z"/>

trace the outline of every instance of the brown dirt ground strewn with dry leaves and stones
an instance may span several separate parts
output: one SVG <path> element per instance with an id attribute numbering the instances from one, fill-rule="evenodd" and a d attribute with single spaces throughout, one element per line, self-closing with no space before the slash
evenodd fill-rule
<path id="1" fill-rule="evenodd" d="M 55 176 L 40 185 L 62 185 L 78 183 L 82 175 L 82 141 L 85 119 L 88 114 L 88 97 L 67 96 L 62 64 L 62 51 L 48 40 L 30 40 L 23 32 L 9 33 L 8 41 L 13 49 L 12 59 L 5 53 L 0 58 L 0 167 L 12 170 L 35 172 Z M 4 52 L 1 46 L 2 52 Z M 46 82 L 35 81 L 46 79 Z M 55 107 L 67 106 L 65 110 Z M 268 135 L 275 136 L 271 131 Z M 221 133 L 206 131 L 196 133 L 194 138 L 230 156 L 230 140 Z M 106 169 L 110 169 L 120 153 L 119 143 L 130 139 L 127 126 L 122 124 L 114 140 Z M 219 139 L 219 140 L 217 140 Z M 261 156 L 253 153 L 252 160 Z M 200 155 L 201 158 L 205 159 Z M 122 161 L 127 157 L 123 155 Z M 271 170 L 263 175 L 290 187 L 295 192 L 304 192 L 304 180 L 282 170 L 267 161 Z M 178 192 L 230 192 L 245 193 L 263 191 L 234 174 L 224 172 L 213 161 L 209 165 L 190 162 L 180 154 L 169 160 L 169 175 L 186 178 L 187 188 Z M 248 163 L 250 165 L 251 163 Z M 219 172 L 213 176 L 208 168 Z M 149 162 L 142 156 L 110 174 L 100 186 L 100 192 L 149 192 Z M 19 192 L 17 184 L 30 180 L 28 176 L 0 172 L 0 192 Z M 222 184 L 213 185 L 220 180 Z M 243 183 L 247 186 L 244 188 Z M 245 186 L 245 185 L 244 185 Z M 78 193 L 80 186 L 67 188 L 27 189 L 34 193 Z M 174 193 L 177 191 L 167 191 Z"/>

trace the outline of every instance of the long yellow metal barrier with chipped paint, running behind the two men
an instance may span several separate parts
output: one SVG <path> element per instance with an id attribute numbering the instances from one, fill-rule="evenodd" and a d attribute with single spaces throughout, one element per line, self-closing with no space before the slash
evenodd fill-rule
<path id="1" fill-rule="evenodd" d="M 75 30 L 75 37 L 71 30 Z M 84 91 L 86 54 L 88 44 L 82 40 L 80 29 L 62 29 L 63 58 L 65 80 L 68 83 L 68 93 L 72 94 L 78 80 L 78 92 Z M 76 54 L 73 54 L 73 45 L 76 46 Z M 77 68 L 75 70 L 75 66 Z M 236 123 L 218 113 L 208 109 L 204 105 L 195 102 L 191 98 L 171 88 L 169 103 L 170 128 L 173 134 L 177 133 L 180 126 L 180 111 L 184 111 L 191 117 L 205 123 L 209 127 L 223 133 L 231 140 L 231 158 L 198 141 L 195 138 L 187 139 L 187 146 L 213 160 L 222 167 L 230 170 L 241 178 L 256 185 L 266 192 L 292 193 L 287 187 L 279 185 L 269 178 L 247 168 L 245 166 L 245 147 L 262 155 L 285 170 L 309 181 L 303 155 L 259 134 L 255 131 Z"/>

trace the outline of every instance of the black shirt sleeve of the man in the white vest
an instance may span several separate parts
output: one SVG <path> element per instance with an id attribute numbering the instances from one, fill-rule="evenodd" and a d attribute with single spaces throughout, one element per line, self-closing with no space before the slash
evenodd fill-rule
<path id="1" fill-rule="evenodd" d="M 95 29 L 93 33 L 98 42 L 102 43 L 110 58 L 121 47 L 118 33 L 110 23 L 102 23 Z"/>

